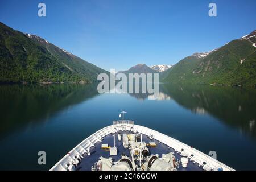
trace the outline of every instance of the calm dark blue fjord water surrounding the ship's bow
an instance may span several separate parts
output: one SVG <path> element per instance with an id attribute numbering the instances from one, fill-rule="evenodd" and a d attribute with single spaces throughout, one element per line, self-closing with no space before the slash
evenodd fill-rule
<path id="1" fill-rule="evenodd" d="M 50 169 L 67 152 L 127 111 L 150 127 L 234 169 L 256 169 L 256 89 L 160 85 L 147 94 L 98 94 L 97 85 L 1 85 L 0 169 Z M 38 164 L 38 151 L 47 164 Z"/>

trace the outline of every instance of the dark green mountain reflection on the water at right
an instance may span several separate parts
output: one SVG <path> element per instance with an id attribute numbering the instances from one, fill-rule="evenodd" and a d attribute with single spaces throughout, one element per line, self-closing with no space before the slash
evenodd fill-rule
<path id="1" fill-rule="evenodd" d="M 195 113 L 208 113 L 256 137 L 254 88 L 162 84 L 159 90 Z"/>

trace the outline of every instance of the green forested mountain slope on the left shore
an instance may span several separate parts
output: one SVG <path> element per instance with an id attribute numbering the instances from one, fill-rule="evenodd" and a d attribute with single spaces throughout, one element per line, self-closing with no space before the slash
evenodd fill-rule
<path id="1" fill-rule="evenodd" d="M 92 82 L 104 69 L 0 22 L 0 82 Z"/>

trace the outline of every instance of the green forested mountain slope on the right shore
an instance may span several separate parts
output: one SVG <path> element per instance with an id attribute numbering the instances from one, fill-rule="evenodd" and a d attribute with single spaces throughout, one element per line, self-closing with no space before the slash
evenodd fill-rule
<path id="1" fill-rule="evenodd" d="M 256 31 L 214 49 L 205 57 L 180 60 L 164 82 L 212 85 L 256 85 Z"/>

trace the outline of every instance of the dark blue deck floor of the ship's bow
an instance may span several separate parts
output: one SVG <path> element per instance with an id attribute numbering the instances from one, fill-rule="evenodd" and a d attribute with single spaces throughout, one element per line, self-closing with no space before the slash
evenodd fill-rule
<path id="1" fill-rule="evenodd" d="M 120 131 L 121 134 L 126 133 L 126 134 L 133 134 L 130 131 Z M 109 146 L 114 146 L 114 134 L 112 135 L 106 135 L 102 142 L 97 142 L 94 144 L 94 146 L 90 147 L 90 155 L 88 156 L 86 153 L 83 154 L 83 159 L 81 162 L 76 166 L 75 170 L 76 171 L 90 171 L 91 167 L 95 162 L 98 162 L 100 156 L 104 158 L 112 158 L 113 162 L 118 161 L 121 159 L 121 155 L 125 154 L 126 156 L 131 157 L 130 155 L 130 150 L 126 149 L 123 147 L 122 140 L 118 141 L 117 133 L 115 133 L 115 138 L 116 138 L 116 147 L 117 147 L 117 155 L 112 155 L 110 156 L 109 151 L 106 151 L 101 148 L 101 144 L 108 144 Z M 149 147 L 148 149 L 150 151 L 149 155 L 151 154 L 159 154 L 159 157 L 162 157 L 162 154 L 168 154 L 169 152 L 174 152 L 174 156 L 177 159 L 180 160 L 182 157 L 180 154 L 177 154 L 173 148 L 168 148 L 168 146 L 164 143 L 159 143 L 158 140 L 156 139 L 149 139 L 147 138 L 146 135 L 142 134 L 142 141 L 149 143 L 149 142 L 155 142 L 156 147 Z M 193 161 L 188 162 L 187 168 L 183 168 L 181 163 L 179 168 L 177 168 L 177 171 L 202 171 L 203 167 L 199 167 L 198 163 L 193 163 Z"/>

